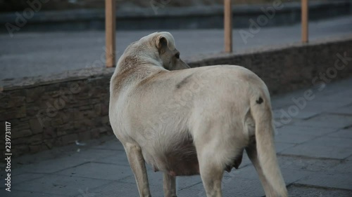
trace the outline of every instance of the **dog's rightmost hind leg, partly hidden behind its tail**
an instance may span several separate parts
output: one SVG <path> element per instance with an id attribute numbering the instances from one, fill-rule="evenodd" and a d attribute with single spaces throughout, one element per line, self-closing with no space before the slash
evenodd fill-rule
<path id="1" fill-rule="evenodd" d="M 263 170 L 260 167 L 260 163 L 258 161 L 258 154 L 257 154 L 256 144 L 251 144 L 249 147 L 247 147 L 246 148 L 246 153 L 249 156 L 249 159 L 251 160 L 251 162 L 253 163 L 254 168 L 256 168 L 256 171 L 258 173 L 260 182 L 262 183 L 262 186 L 263 186 L 264 191 L 265 191 L 265 196 L 267 196 L 267 197 L 276 197 L 277 194 L 272 189 L 272 186 L 270 186 L 270 183 L 265 178 L 265 176 L 263 174 Z"/>

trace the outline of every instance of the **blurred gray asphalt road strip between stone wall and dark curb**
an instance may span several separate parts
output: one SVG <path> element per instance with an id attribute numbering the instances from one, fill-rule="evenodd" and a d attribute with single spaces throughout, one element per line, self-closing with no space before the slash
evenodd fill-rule
<path id="1" fill-rule="evenodd" d="M 256 20 L 256 18 L 253 18 Z M 234 20 L 236 22 L 236 20 Z M 352 15 L 310 22 L 310 40 L 352 34 Z M 117 33 L 117 56 L 126 46 L 156 31 Z M 181 57 L 219 53 L 223 50 L 222 29 L 171 30 Z M 247 32 L 246 41 L 239 32 Z M 234 29 L 234 53 L 251 48 L 298 42 L 301 25 Z M 17 32 L 11 38 L 0 34 L 0 80 L 65 72 L 68 69 L 104 66 L 104 32 Z"/>

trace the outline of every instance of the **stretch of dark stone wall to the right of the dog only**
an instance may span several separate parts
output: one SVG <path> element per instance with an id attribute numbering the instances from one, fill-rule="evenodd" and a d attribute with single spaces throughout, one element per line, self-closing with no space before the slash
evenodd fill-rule
<path id="1" fill-rule="evenodd" d="M 347 58 L 341 58 L 343 56 Z M 352 36 L 348 36 L 334 41 L 296 43 L 237 55 L 199 57 L 189 64 L 191 67 L 213 64 L 241 65 L 258 74 L 267 84 L 271 94 L 278 94 L 352 76 L 351 58 Z"/>

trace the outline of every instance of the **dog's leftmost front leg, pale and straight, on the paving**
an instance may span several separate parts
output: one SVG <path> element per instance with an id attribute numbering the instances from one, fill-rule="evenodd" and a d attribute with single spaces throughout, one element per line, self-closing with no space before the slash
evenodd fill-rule
<path id="1" fill-rule="evenodd" d="M 137 144 L 126 143 L 125 151 L 127 154 L 128 162 L 134 173 L 134 178 L 137 182 L 139 196 L 151 197 L 149 191 L 148 175 L 146 173 L 146 164 L 142 155 L 141 147 Z"/>

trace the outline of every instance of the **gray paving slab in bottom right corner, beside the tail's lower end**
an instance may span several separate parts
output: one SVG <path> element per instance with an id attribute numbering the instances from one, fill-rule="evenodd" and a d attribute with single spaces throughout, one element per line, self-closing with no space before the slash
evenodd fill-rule
<path id="1" fill-rule="evenodd" d="M 322 186 L 327 188 L 352 190 L 352 174 L 337 172 L 320 172 L 296 182 L 310 186 Z"/>

